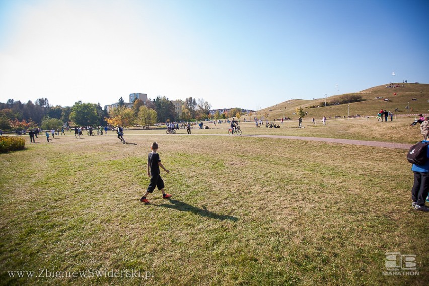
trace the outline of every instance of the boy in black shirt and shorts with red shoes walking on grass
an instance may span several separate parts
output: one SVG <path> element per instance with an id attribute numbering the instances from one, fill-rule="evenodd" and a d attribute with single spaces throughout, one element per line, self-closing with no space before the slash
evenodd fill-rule
<path id="1" fill-rule="evenodd" d="M 140 199 L 140 201 L 144 203 L 149 203 L 149 200 L 147 200 L 146 197 L 155 190 L 155 187 L 157 187 L 162 192 L 163 198 L 171 197 L 171 195 L 164 192 L 164 181 L 160 176 L 160 167 L 164 169 L 167 174 L 170 173 L 170 171 L 167 170 L 161 163 L 160 155 L 157 153 L 157 142 L 152 143 L 151 150 L 152 152 L 148 155 L 148 176 L 151 177 L 151 182 L 149 183 L 146 193 Z"/>

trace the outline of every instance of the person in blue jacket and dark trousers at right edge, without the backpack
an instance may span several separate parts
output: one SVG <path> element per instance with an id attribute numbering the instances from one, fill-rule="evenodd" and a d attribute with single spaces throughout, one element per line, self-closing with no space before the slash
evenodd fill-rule
<path id="1" fill-rule="evenodd" d="M 426 140 L 422 142 L 429 143 Z M 429 148 L 426 152 L 426 156 L 429 158 Z M 414 185 L 411 190 L 412 207 L 415 210 L 429 211 L 429 207 L 425 205 L 429 193 L 429 160 L 423 165 L 412 164 L 411 170 L 414 172 Z"/>

